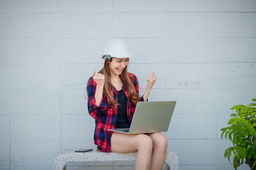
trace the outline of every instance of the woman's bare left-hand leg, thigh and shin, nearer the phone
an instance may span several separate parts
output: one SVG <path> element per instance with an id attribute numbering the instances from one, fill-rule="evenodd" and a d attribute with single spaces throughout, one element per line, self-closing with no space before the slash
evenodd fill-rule
<path id="1" fill-rule="evenodd" d="M 135 169 L 138 170 L 148 170 L 150 168 L 152 147 L 152 138 L 146 134 L 113 132 L 111 137 L 111 152 L 138 152 L 135 160 Z"/>

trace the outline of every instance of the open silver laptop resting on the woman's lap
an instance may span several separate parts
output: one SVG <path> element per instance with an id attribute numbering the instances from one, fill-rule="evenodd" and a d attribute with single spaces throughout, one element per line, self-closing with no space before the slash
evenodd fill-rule
<path id="1" fill-rule="evenodd" d="M 124 134 L 166 132 L 171 122 L 176 101 L 138 102 L 130 128 L 108 129 Z"/>

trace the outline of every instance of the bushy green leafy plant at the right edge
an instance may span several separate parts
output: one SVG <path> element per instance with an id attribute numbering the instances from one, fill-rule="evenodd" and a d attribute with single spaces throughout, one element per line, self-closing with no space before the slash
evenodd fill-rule
<path id="1" fill-rule="evenodd" d="M 256 102 L 256 99 L 252 99 Z M 234 155 L 233 166 L 235 169 L 244 163 L 249 164 L 252 169 L 256 169 L 256 103 L 247 106 L 236 105 L 231 110 L 236 113 L 231 114 L 228 121 L 228 127 L 221 129 L 221 139 L 225 134 L 225 139 L 232 141 L 233 146 L 227 148 L 224 157 L 228 158 Z M 233 154 L 232 154 L 233 153 Z"/>

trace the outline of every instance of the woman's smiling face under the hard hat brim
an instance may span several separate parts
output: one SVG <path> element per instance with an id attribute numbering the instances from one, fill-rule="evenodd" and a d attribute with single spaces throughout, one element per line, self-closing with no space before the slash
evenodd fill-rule
<path id="1" fill-rule="evenodd" d="M 111 75 L 120 75 L 124 68 L 128 66 L 129 58 L 112 58 L 109 63 Z"/>

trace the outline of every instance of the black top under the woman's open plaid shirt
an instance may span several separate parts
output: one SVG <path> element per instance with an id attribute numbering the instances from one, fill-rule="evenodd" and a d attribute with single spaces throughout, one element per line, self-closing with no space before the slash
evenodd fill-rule
<path id="1" fill-rule="evenodd" d="M 121 89 L 118 91 L 118 109 L 115 128 L 130 127 L 131 124 L 127 118 L 127 98 L 124 91 Z"/>

